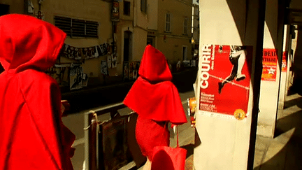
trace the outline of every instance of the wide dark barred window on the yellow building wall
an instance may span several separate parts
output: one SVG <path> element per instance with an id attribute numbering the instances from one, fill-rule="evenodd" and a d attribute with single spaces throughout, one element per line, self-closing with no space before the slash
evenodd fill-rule
<path id="1" fill-rule="evenodd" d="M 62 29 L 70 37 L 99 37 L 98 22 L 55 16 L 55 26 Z"/>

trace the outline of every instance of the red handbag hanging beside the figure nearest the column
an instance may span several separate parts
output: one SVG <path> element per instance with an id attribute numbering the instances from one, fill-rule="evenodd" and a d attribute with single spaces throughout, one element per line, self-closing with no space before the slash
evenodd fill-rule
<path id="1" fill-rule="evenodd" d="M 177 147 L 155 146 L 153 149 L 153 158 L 151 170 L 185 170 L 185 160 L 187 150 L 179 147 L 178 128 L 177 131 Z"/>

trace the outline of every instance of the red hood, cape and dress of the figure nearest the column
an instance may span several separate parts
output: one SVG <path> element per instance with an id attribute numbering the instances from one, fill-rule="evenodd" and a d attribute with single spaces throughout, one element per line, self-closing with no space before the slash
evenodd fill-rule
<path id="1" fill-rule="evenodd" d="M 166 122 L 181 125 L 187 118 L 166 57 L 152 45 L 145 48 L 138 74 L 124 104 L 138 113 L 136 141 L 152 161 L 154 146 L 169 146 Z"/>

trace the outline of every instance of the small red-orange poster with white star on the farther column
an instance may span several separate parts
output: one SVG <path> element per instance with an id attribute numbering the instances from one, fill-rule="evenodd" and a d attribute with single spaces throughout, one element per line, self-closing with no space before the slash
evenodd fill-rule
<path id="1" fill-rule="evenodd" d="M 275 81 L 277 77 L 278 55 L 275 49 L 264 49 L 261 80 Z"/>

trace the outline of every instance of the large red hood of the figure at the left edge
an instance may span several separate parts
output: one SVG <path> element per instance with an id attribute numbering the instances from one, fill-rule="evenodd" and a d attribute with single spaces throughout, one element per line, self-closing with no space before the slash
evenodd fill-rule
<path id="1" fill-rule="evenodd" d="M 55 64 L 66 34 L 29 15 L 0 17 L 0 62 L 6 71 L 45 71 Z"/>

